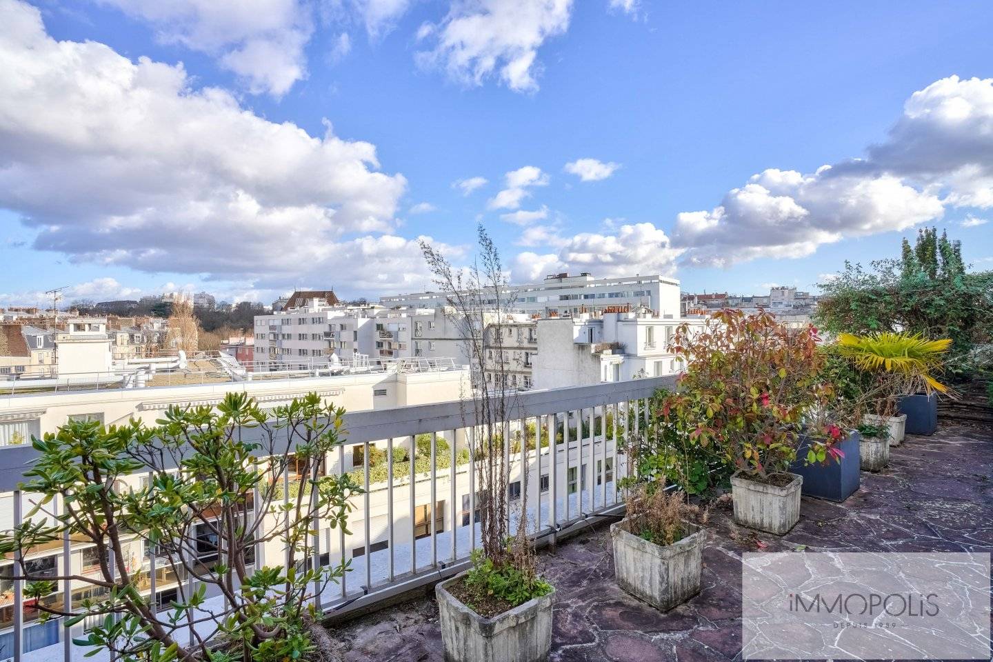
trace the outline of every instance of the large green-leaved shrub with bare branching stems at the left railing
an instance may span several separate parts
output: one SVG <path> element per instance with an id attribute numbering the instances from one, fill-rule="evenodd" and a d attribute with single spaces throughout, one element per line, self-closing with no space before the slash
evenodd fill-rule
<path id="1" fill-rule="evenodd" d="M 25 596 L 44 617 L 70 625 L 102 616 L 76 643 L 125 662 L 278 662 L 312 651 L 322 636 L 313 598 L 348 570 L 308 565 L 314 522 L 345 528 L 349 497 L 360 489 L 348 475 L 321 476 L 340 444 L 344 410 L 312 393 L 268 414 L 229 393 L 216 411 L 172 407 L 156 427 L 70 422 L 33 440 L 41 455 L 24 489 L 40 494 L 40 505 L 0 535 L 0 553 L 21 553 Z M 291 462 L 304 480 L 284 500 L 276 494 Z M 35 575 L 25 552 L 66 535 L 95 548 L 96 573 Z M 249 570 L 255 551 L 274 541 L 285 557 Z M 164 611 L 141 591 L 142 550 L 180 580 Z M 198 583 L 192 592 L 188 578 Z M 93 597 L 71 608 L 44 599 L 64 580 L 88 585 Z M 208 587 L 222 600 L 207 604 Z"/>

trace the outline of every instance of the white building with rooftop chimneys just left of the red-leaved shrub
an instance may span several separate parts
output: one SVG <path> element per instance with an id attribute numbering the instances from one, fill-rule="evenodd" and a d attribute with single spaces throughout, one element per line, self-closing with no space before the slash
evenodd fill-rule
<path id="1" fill-rule="evenodd" d="M 703 322 L 660 317 L 644 310 L 538 320 L 537 352 L 531 358 L 533 388 L 676 374 L 681 367 L 669 349 L 676 328 L 683 323 L 702 326 Z"/>

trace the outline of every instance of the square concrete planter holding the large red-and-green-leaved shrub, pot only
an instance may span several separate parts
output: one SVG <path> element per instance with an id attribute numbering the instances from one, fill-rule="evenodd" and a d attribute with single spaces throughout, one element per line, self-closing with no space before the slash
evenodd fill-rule
<path id="1" fill-rule="evenodd" d="M 756 482 L 735 471 L 731 476 L 731 496 L 735 505 L 735 521 L 760 531 L 781 536 L 793 528 L 800 518 L 800 487 L 803 476 L 787 473 L 793 480 L 779 487 Z"/>

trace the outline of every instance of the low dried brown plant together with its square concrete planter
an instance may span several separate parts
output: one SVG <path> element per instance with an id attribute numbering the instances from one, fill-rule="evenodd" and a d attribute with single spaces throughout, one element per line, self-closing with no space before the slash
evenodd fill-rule
<path id="1" fill-rule="evenodd" d="M 663 611 L 698 594 L 706 512 L 662 480 L 629 487 L 625 511 L 611 526 L 618 585 Z"/>

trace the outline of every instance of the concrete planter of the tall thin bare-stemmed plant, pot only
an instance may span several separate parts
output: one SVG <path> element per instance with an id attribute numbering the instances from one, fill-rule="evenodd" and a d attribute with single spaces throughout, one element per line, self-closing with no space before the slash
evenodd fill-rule
<path id="1" fill-rule="evenodd" d="M 552 596 L 535 597 L 486 618 L 450 594 L 460 573 L 435 585 L 447 662 L 541 662 L 552 646 Z"/>

